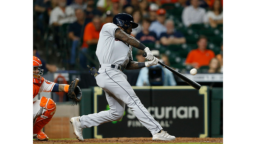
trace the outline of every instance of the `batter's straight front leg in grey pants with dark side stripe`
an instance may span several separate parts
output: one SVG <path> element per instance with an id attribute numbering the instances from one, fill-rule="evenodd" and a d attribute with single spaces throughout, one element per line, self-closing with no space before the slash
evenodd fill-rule
<path id="1" fill-rule="evenodd" d="M 123 75 L 122 73 L 117 74 L 113 72 L 113 70 L 111 71 L 107 69 L 105 72 L 109 79 L 105 81 L 108 85 L 105 85 L 104 88 L 126 103 L 138 120 L 152 133 L 152 135 L 162 130 L 163 128 L 161 125 L 151 116 L 141 103 L 140 99 L 136 96 L 131 85 L 126 80 L 126 75 Z"/>

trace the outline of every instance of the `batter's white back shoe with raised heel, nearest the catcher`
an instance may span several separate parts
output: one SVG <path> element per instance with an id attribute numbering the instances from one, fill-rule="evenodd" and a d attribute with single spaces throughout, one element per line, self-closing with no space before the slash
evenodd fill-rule
<path id="1" fill-rule="evenodd" d="M 80 123 L 79 119 L 80 119 L 80 116 L 72 117 L 70 119 L 70 123 L 72 124 L 73 130 L 74 130 L 74 135 L 76 136 L 76 138 L 79 141 L 84 141 L 84 138 L 83 138 L 83 128 L 81 126 L 81 123 Z"/>

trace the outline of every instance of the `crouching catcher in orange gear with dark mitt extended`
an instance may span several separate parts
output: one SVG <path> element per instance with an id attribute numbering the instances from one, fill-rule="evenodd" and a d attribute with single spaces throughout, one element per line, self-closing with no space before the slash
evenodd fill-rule
<path id="1" fill-rule="evenodd" d="M 70 85 L 50 82 L 42 77 L 42 62 L 33 56 L 33 98 L 40 92 L 66 92 L 75 104 L 82 98 L 81 89 L 77 86 L 79 79 Z M 42 97 L 33 101 L 33 139 L 47 141 L 49 138 L 41 129 L 52 119 L 56 111 L 56 103 L 51 98 Z"/>

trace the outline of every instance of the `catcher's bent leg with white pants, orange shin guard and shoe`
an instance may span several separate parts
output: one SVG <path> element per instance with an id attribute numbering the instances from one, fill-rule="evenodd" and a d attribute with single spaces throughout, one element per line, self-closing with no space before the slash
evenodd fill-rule
<path id="1" fill-rule="evenodd" d="M 49 123 L 55 111 L 56 111 L 56 103 L 51 98 L 42 97 L 40 100 L 33 102 L 33 138 L 34 139 L 37 139 L 37 140 L 49 139 L 47 135 L 41 131 L 41 129 L 47 123 Z"/>

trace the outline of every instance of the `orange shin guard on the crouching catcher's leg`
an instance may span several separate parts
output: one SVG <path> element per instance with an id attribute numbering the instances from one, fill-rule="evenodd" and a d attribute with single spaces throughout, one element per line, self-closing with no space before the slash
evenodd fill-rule
<path id="1" fill-rule="evenodd" d="M 56 103 L 51 98 L 42 97 L 40 100 L 40 116 L 38 116 L 33 124 L 33 134 L 37 134 L 41 129 L 49 123 L 56 111 Z"/>

